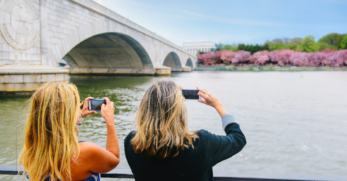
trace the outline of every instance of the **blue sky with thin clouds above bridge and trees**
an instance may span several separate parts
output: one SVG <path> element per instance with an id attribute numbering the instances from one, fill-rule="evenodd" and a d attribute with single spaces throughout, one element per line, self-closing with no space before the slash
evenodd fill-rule
<path id="1" fill-rule="evenodd" d="M 95 1 L 179 46 L 347 33 L 347 0 Z"/>

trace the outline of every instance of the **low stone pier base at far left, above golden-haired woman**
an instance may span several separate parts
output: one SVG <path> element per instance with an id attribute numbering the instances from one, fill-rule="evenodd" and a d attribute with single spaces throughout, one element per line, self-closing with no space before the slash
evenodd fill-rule
<path id="1" fill-rule="evenodd" d="M 14 96 L 31 95 L 43 83 L 66 80 L 68 70 L 45 65 L 12 64 L 0 66 L 0 93 Z"/>

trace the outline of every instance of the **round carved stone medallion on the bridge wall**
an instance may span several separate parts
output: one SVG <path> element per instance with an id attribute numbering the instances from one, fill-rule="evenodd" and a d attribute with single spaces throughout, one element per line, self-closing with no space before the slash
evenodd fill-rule
<path id="1" fill-rule="evenodd" d="M 31 0 L 1 0 L 0 30 L 12 47 L 32 47 L 40 33 L 40 20 Z"/>

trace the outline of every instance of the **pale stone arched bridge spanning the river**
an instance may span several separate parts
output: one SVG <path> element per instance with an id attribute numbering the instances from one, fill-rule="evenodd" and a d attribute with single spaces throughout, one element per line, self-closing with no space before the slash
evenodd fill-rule
<path id="1" fill-rule="evenodd" d="M 154 74 L 197 65 L 195 55 L 92 0 L 0 0 L 0 30 L 0 66 L 64 59 L 70 73 Z"/>

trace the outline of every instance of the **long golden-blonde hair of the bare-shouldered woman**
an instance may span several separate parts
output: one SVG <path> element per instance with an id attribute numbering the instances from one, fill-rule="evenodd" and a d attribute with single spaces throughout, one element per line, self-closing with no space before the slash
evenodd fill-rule
<path id="1" fill-rule="evenodd" d="M 71 179 L 70 162 L 79 154 L 76 86 L 66 81 L 43 84 L 29 100 L 24 146 L 19 163 L 31 181 Z"/>

